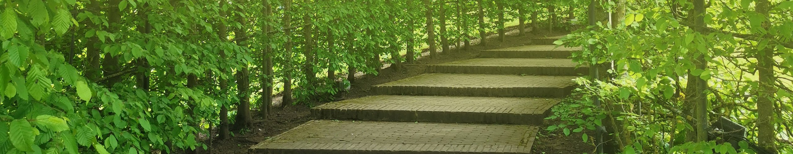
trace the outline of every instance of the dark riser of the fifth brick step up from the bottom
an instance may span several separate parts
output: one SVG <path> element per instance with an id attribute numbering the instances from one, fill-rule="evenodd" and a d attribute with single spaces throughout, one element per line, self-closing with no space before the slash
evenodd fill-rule
<path id="1" fill-rule="evenodd" d="M 569 58 L 573 51 L 482 51 L 481 58 Z"/>

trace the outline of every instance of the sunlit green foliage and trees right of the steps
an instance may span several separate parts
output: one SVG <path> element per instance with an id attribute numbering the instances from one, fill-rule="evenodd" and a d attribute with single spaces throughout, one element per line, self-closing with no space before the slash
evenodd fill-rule
<path id="1" fill-rule="evenodd" d="M 565 124 L 549 130 L 604 126 L 625 153 L 793 152 L 793 2 L 593 2 L 598 23 L 557 43 L 584 46 L 575 61 L 607 77 L 581 79 L 584 99 L 555 109 Z M 714 138 L 720 117 L 748 140 Z"/>

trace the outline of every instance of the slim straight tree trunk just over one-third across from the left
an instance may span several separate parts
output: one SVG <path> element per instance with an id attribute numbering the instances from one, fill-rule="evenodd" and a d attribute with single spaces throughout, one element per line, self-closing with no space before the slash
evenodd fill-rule
<path id="1" fill-rule="evenodd" d="M 292 9 L 292 0 L 284 0 L 284 36 L 286 36 L 286 44 L 284 50 L 286 54 L 286 63 L 284 64 L 284 92 L 281 102 L 281 108 L 286 107 L 287 104 L 292 104 L 292 15 L 289 13 Z"/>

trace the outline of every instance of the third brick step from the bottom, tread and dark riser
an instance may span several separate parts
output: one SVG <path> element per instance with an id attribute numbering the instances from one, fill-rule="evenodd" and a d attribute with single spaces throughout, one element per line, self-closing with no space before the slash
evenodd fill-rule
<path id="1" fill-rule="evenodd" d="M 549 97 L 568 96 L 568 76 L 427 73 L 372 87 L 375 95 Z"/>

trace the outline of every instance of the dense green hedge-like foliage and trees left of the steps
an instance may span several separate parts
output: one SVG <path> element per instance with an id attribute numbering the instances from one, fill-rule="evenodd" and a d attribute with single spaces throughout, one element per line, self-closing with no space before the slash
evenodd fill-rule
<path id="1" fill-rule="evenodd" d="M 0 153 L 206 148 L 198 137 L 267 118 L 276 93 L 328 100 L 335 82 L 399 69 L 424 44 L 561 21 L 545 11 L 556 3 L 0 0 Z"/>

